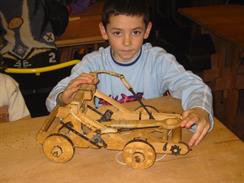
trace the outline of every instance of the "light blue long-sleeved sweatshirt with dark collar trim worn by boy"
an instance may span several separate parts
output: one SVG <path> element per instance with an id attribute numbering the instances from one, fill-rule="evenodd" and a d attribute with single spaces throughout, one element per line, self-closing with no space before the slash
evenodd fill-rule
<path id="1" fill-rule="evenodd" d="M 166 91 L 182 101 L 184 110 L 200 107 L 209 113 L 211 128 L 213 127 L 212 94 L 210 88 L 190 71 L 186 71 L 175 57 L 160 47 L 152 47 L 150 43 L 142 46 L 140 53 L 131 61 L 119 63 L 111 55 L 111 47 L 100 48 L 83 57 L 75 65 L 69 77 L 61 80 L 49 94 L 46 105 L 49 111 L 56 106 L 56 98 L 64 91 L 68 83 L 81 73 L 106 70 L 123 74 L 136 93 L 144 98 L 162 96 Z M 118 101 L 131 96 L 116 77 L 99 75 L 98 89 Z M 126 97 L 125 97 L 126 96 Z"/>

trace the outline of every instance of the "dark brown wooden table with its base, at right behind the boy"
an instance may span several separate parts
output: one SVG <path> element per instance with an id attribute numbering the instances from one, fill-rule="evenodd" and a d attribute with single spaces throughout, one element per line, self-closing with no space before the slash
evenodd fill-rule
<path id="1" fill-rule="evenodd" d="M 216 54 L 212 57 L 212 68 L 203 73 L 203 79 L 213 90 L 215 114 L 244 139 L 244 114 L 238 113 L 239 94 L 244 89 L 244 64 L 241 64 L 244 6 L 192 7 L 179 9 L 179 12 L 212 35 Z"/>

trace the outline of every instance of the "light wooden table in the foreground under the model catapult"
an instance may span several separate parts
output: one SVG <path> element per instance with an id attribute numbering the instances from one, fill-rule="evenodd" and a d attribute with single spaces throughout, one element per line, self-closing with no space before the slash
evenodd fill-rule
<path id="1" fill-rule="evenodd" d="M 244 144 L 217 119 L 215 129 L 186 156 L 167 155 L 146 170 L 116 162 L 117 151 L 77 149 L 71 161 L 49 161 L 36 142 L 46 117 L 0 124 L 0 182 L 155 183 L 244 182 Z M 183 131 L 185 140 L 191 133 Z"/>

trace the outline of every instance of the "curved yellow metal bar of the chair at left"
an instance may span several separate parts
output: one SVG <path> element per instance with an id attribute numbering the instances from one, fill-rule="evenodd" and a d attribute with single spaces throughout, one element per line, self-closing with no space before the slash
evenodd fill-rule
<path id="1" fill-rule="evenodd" d="M 79 62 L 80 60 L 71 60 L 68 62 L 56 64 L 56 65 L 51 65 L 51 66 L 46 66 L 46 67 L 37 67 L 37 68 L 7 68 L 5 69 L 6 73 L 12 73 L 12 74 L 36 74 L 40 75 L 43 72 L 50 72 L 58 69 L 62 69 L 65 67 L 69 67 L 72 65 L 75 65 Z"/>

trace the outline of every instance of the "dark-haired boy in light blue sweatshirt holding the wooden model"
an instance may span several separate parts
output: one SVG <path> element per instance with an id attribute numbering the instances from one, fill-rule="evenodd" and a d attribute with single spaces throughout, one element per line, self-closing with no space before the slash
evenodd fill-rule
<path id="1" fill-rule="evenodd" d="M 197 145 L 213 127 L 212 95 L 202 80 L 185 71 L 173 55 L 159 47 L 143 44 L 152 27 L 146 0 L 105 0 L 101 34 L 110 46 L 100 48 L 82 59 L 52 90 L 46 104 L 50 110 L 58 103 L 68 104 L 83 83 L 96 83 L 87 74 L 96 70 L 109 70 L 123 74 L 144 98 L 154 98 L 169 91 L 182 100 L 184 108 L 181 127 L 195 127 L 189 146 Z M 113 77 L 99 76 L 98 89 L 107 95 L 119 98 L 131 95 L 118 85 Z"/>

